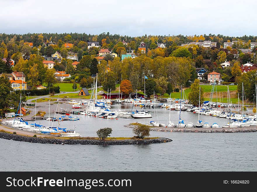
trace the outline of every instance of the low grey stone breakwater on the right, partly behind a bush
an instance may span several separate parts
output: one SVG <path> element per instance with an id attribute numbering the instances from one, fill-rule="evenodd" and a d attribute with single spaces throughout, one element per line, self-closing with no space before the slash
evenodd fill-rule
<path id="1" fill-rule="evenodd" d="M 124 127 L 134 128 L 135 125 L 128 124 Z M 246 132 L 257 132 L 257 127 L 242 127 L 242 128 L 176 128 L 176 127 L 152 127 L 150 131 L 162 131 L 162 132 L 196 132 L 196 133 L 246 133 Z"/>

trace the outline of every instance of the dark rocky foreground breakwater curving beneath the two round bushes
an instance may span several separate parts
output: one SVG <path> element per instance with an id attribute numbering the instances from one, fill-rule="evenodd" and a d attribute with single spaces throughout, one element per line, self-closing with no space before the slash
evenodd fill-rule
<path id="1" fill-rule="evenodd" d="M 94 140 L 94 139 L 57 139 L 57 138 L 43 138 L 43 137 L 29 137 L 18 134 L 11 134 L 7 132 L 0 132 L 0 138 L 24 141 L 30 143 L 43 143 L 43 144 L 68 144 L 68 145 L 139 145 L 139 144 L 152 144 L 152 143 L 166 143 L 172 141 L 167 138 L 157 139 L 126 139 L 126 140 Z"/>

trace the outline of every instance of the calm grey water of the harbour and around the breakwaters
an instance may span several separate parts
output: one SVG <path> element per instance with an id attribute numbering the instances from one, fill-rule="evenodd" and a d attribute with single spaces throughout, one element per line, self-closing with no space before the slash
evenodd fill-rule
<path id="1" fill-rule="evenodd" d="M 113 105 L 115 108 L 115 105 Z M 117 105 L 116 105 L 117 107 Z M 139 108 L 138 108 L 139 110 Z M 151 111 L 149 109 L 148 111 Z M 169 111 L 157 109 L 158 119 L 167 123 Z M 198 115 L 181 112 L 182 119 L 197 122 Z M 153 110 L 152 110 L 152 115 Z M 179 111 L 171 111 L 174 122 Z M 130 122 L 152 119 L 109 120 L 80 116 L 80 121 L 61 122 L 76 126 L 82 136 L 96 136 L 102 127 L 112 127 L 111 136 L 133 136 Z M 227 119 L 200 115 L 203 122 L 222 125 Z M 157 120 L 157 117 L 155 118 Z M 55 123 L 55 122 L 54 122 Z M 41 121 L 48 125 L 48 122 Z M 139 146 L 52 145 L 0 139 L 1 171 L 257 171 L 257 133 L 154 132 L 172 142 Z M 60 166 L 61 165 L 61 166 Z"/>

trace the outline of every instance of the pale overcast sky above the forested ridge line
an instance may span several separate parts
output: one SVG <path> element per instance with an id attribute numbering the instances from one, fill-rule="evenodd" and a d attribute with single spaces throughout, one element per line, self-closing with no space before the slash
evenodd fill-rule
<path id="1" fill-rule="evenodd" d="M 0 33 L 256 36 L 256 1 L 1 0 Z"/>

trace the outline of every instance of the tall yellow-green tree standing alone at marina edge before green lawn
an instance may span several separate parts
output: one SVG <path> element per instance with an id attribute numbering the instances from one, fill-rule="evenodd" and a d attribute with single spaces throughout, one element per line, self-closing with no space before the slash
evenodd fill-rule
<path id="1" fill-rule="evenodd" d="M 195 82 L 192 83 L 191 85 L 191 92 L 188 94 L 188 99 L 190 103 L 194 106 L 199 106 L 199 91 L 200 91 L 200 80 L 195 79 Z M 200 94 L 200 105 L 204 102 L 203 98 L 203 92 L 204 90 L 201 89 L 201 94 Z"/>

